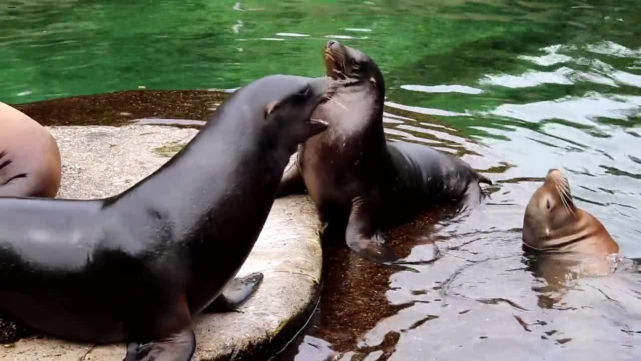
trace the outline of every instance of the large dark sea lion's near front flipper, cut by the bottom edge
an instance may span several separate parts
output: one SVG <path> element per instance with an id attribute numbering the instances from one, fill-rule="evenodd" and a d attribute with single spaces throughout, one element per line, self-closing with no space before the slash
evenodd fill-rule
<path id="1" fill-rule="evenodd" d="M 147 344 L 129 343 L 123 361 L 189 361 L 194 350 L 196 335 L 192 328 L 188 328 Z"/>

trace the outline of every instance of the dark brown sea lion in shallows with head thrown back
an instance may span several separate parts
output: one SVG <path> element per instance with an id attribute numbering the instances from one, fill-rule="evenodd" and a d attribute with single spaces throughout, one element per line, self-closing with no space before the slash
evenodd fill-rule
<path id="1" fill-rule="evenodd" d="M 314 111 L 313 118 L 327 121 L 329 130 L 299 147 L 278 197 L 307 191 L 320 221 L 344 229 L 354 252 L 388 263 L 396 257 L 385 245 L 383 227 L 401 224 L 438 202 L 478 203 L 479 182 L 492 182 L 429 146 L 387 143 L 385 82 L 370 57 L 329 40 L 324 61 L 326 75 L 344 87 Z"/>

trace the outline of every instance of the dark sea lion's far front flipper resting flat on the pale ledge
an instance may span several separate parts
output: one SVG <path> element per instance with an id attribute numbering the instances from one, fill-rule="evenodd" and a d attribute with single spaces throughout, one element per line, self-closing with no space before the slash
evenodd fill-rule
<path id="1" fill-rule="evenodd" d="M 222 293 L 203 312 L 235 312 L 241 304 L 258 290 L 258 286 L 262 281 L 263 274 L 260 272 L 232 279 L 222 290 Z"/>

